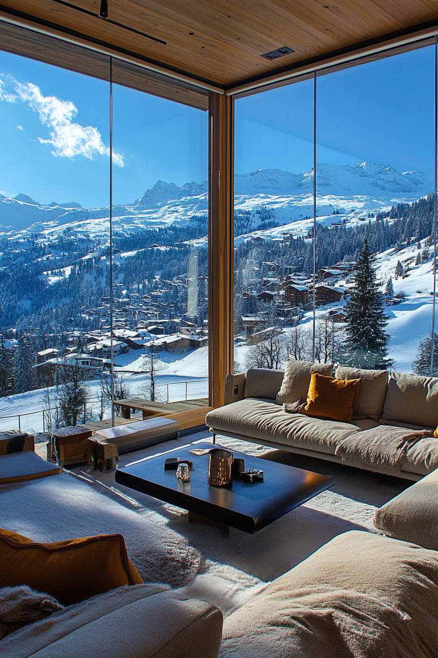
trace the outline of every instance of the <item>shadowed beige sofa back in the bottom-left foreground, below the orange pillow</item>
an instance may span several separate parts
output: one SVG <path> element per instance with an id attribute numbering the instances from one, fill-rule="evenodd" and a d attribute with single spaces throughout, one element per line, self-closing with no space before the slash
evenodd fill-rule
<path id="1" fill-rule="evenodd" d="M 215 658 L 222 613 L 165 585 L 120 588 L 1 641 L 2 658 Z"/>

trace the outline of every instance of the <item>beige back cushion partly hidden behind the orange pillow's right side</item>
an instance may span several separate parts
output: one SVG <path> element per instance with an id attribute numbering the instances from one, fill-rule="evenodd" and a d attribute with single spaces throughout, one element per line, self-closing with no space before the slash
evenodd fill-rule
<path id="1" fill-rule="evenodd" d="M 388 388 L 388 373 L 386 370 L 362 370 L 362 368 L 347 368 L 338 365 L 335 376 L 338 379 L 362 380 L 353 409 L 353 420 L 359 418 L 380 420 Z"/>

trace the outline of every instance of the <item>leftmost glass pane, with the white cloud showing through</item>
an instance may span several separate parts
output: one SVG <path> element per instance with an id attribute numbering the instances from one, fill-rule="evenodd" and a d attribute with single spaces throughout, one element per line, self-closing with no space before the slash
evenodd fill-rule
<path id="1" fill-rule="evenodd" d="M 0 113 L 0 428 L 43 432 L 110 413 L 109 84 L 1 52 Z"/>

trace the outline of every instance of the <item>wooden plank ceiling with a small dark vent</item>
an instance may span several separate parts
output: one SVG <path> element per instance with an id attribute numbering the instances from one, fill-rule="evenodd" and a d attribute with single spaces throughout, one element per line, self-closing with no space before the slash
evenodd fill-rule
<path id="1" fill-rule="evenodd" d="M 438 25 L 437 0 L 108 0 L 107 20 L 92 15 L 99 14 L 100 0 L 0 0 L 2 10 L 222 88 L 415 26 Z M 282 46 L 296 52 L 274 61 L 261 57 Z"/>

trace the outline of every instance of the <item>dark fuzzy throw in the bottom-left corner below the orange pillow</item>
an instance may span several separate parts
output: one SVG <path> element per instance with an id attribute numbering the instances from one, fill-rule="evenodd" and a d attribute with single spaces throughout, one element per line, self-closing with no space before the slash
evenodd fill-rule
<path id="1" fill-rule="evenodd" d="M 0 640 L 63 607 L 49 594 L 34 592 L 27 585 L 0 588 Z"/>

